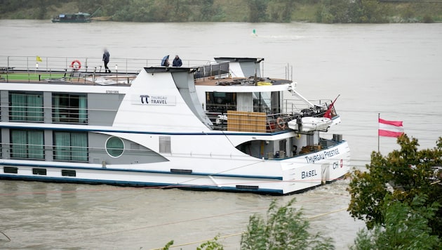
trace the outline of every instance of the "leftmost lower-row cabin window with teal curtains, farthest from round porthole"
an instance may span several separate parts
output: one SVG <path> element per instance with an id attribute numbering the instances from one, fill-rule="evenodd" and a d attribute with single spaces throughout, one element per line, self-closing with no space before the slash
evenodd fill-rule
<path id="1" fill-rule="evenodd" d="M 11 130 L 11 158 L 44 159 L 43 131 Z"/>

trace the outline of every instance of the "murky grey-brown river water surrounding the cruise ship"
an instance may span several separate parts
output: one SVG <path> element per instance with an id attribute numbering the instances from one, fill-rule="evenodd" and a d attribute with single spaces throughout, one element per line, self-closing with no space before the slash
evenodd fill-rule
<path id="1" fill-rule="evenodd" d="M 255 29 L 257 36 L 253 36 Z M 377 150 L 377 117 L 403 121 L 420 148 L 442 136 L 442 23 L 321 25 L 309 23 L 53 24 L 0 20 L 0 55 L 102 56 L 183 60 L 264 58 L 264 75 L 290 77 L 308 99 L 335 103 L 352 166 L 363 169 Z M 1 66 L 1 65 L 0 65 Z M 398 149 L 380 138 L 380 152 Z M 195 192 L 0 180 L 0 249 L 196 249 L 215 236 L 239 249 L 248 218 L 264 215 L 272 200 L 304 211 L 312 232 L 348 249 L 364 223 L 346 211 L 349 180 L 302 194 Z"/>

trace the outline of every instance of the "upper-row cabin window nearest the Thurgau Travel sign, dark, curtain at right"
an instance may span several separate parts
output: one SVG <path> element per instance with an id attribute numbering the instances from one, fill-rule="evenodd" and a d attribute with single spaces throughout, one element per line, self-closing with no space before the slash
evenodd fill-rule
<path id="1" fill-rule="evenodd" d="M 53 93 L 52 121 L 55 123 L 87 124 L 86 94 Z"/>

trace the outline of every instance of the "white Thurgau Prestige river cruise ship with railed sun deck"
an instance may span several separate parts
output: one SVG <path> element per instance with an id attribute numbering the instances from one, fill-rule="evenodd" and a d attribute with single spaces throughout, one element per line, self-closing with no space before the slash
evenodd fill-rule
<path id="1" fill-rule="evenodd" d="M 349 171 L 342 135 L 323 138 L 334 102 L 262 77 L 262 58 L 112 74 L 0 58 L 0 178 L 286 195 Z"/>

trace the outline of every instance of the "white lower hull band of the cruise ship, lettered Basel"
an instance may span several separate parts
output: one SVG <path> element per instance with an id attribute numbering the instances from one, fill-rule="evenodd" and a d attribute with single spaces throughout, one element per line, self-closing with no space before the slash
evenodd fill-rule
<path id="1" fill-rule="evenodd" d="M 328 157 L 330 150 L 339 154 Z M 49 162 L 15 160 L 3 160 L 1 166 L 20 166 L 17 174 L 4 175 L 14 179 L 287 194 L 342 178 L 349 171 L 349 156 L 347 143 L 342 143 L 328 150 L 281 160 L 216 154 L 177 154 L 168 156 L 169 162 L 139 166 L 72 163 L 55 165 Z M 34 175 L 34 167 L 47 169 L 46 175 Z M 75 170 L 76 176 L 62 176 L 60 169 Z M 173 173 L 170 169 L 182 173 Z"/>

